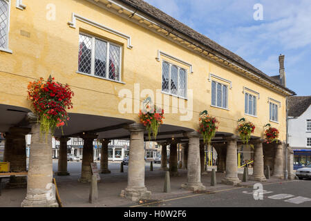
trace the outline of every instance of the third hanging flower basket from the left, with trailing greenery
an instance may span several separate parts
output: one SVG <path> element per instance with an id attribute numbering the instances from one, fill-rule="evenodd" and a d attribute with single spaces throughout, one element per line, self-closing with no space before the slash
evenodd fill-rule
<path id="1" fill-rule="evenodd" d="M 203 137 L 203 142 L 205 144 L 210 144 L 211 139 L 215 137 L 216 131 L 218 130 L 218 124 L 219 122 L 215 117 L 210 117 L 207 113 L 207 111 L 203 111 L 200 113 L 199 118 L 199 130 L 198 132 Z"/>

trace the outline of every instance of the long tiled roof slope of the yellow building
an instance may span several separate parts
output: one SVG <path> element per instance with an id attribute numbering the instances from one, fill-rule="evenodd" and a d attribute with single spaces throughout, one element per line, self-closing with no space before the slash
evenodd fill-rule
<path id="1" fill-rule="evenodd" d="M 163 23 L 165 26 L 172 28 L 171 33 L 180 32 L 182 35 L 185 35 L 189 37 L 190 39 L 197 41 L 199 44 L 202 44 L 203 46 L 207 47 L 209 50 L 218 52 L 220 55 L 223 55 L 229 59 L 232 59 L 232 61 L 245 67 L 245 69 L 251 70 L 253 73 L 256 73 L 257 75 L 260 75 L 264 79 L 267 79 L 268 81 L 272 82 L 272 84 L 276 84 L 277 86 L 280 86 L 281 88 L 285 90 L 288 90 L 293 95 L 296 95 L 294 91 L 280 84 L 280 82 L 277 79 L 272 78 L 269 75 L 266 75 L 261 70 L 258 70 L 257 68 L 252 66 L 252 64 L 249 64 L 243 58 L 234 54 L 234 52 L 231 52 L 230 50 L 227 50 L 223 46 L 220 46 L 215 41 L 212 41 L 205 35 L 202 35 L 196 30 L 189 28 L 184 23 L 181 23 L 180 21 L 174 19 L 173 17 L 170 17 L 166 13 L 162 12 L 160 9 L 154 6 L 151 6 L 149 3 L 142 1 L 142 0 L 119 0 L 119 1 L 121 1 L 122 3 L 125 3 L 128 6 L 135 8 L 136 10 L 140 12 L 143 12 L 144 14 L 148 15 L 149 17 L 152 17 L 153 19 L 156 19 L 160 23 Z"/>

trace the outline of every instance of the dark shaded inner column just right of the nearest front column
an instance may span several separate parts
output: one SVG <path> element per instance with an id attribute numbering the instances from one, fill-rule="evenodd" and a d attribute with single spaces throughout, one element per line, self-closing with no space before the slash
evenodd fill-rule
<path id="1" fill-rule="evenodd" d="M 69 175 L 67 171 L 67 142 L 70 138 L 59 137 L 58 168 L 55 175 Z M 56 149 L 55 149 L 56 151 Z"/>

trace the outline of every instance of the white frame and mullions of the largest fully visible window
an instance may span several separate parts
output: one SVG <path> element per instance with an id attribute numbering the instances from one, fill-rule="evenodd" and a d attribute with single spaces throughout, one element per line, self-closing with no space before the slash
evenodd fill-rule
<path id="1" fill-rule="evenodd" d="M 122 57 L 123 57 L 123 53 L 122 53 L 122 50 L 123 50 L 123 46 L 122 45 L 119 45 L 119 44 L 115 44 L 111 41 L 108 41 L 106 39 L 103 39 L 101 37 L 96 37 L 95 35 L 90 35 L 90 34 L 87 34 L 85 32 L 79 32 L 79 37 L 80 35 L 84 35 L 86 37 L 90 37 L 91 38 L 91 73 L 88 74 L 88 73 L 83 73 L 81 71 L 79 71 L 79 50 L 78 50 L 78 59 L 77 59 L 77 65 L 78 65 L 78 70 L 76 73 L 78 74 L 82 74 L 82 75 L 86 75 L 86 76 L 89 76 L 89 77 L 97 77 L 97 78 L 100 78 L 100 79 L 105 79 L 107 81 L 113 81 L 113 82 L 116 82 L 116 83 L 121 83 L 121 84 L 125 84 L 123 81 L 122 81 Z M 105 70 L 105 73 L 106 73 L 106 77 L 101 77 L 101 76 L 97 76 L 95 75 L 95 40 L 100 40 L 100 41 L 104 41 L 106 42 L 107 44 L 107 48 L 106 48 L 106 53 L 107 53 L 107 57 L 106 57 L 106 64 L 107 64 L 107 60 L 109 61 L 110 60 L 110 45 L 113 45 L 113 46 L 116 46 L 116 47 L 119 47 L 120 48 L 120 77 L 119 77 L 119 80 L 115 80 L 115 79 L 109 79 L 109 65 L 106 66 L 106 70 Z M 108 62 L 109 64 L 109 62 Z M 108 69 L 108 71 L 107 71 Z"/>

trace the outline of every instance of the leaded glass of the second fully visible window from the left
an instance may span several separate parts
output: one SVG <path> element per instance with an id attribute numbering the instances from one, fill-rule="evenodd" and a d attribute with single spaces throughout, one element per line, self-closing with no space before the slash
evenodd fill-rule
<path id="1" fill-rule="evenodd" d="M 187 97 L 187 70 L 163 61 L 162 92 Z"/>

